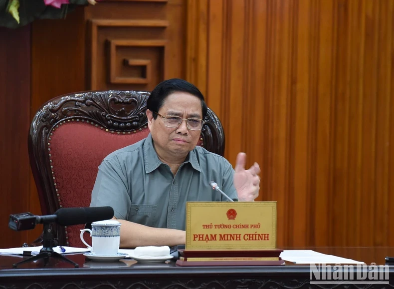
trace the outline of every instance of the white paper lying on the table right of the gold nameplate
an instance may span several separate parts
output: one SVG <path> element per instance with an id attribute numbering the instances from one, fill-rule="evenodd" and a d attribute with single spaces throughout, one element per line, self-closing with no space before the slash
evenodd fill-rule
<path id="1" fill-rule="evenodd" d="M 280 257 L 295 264 L 365 264 L 364 262 L 327 255 L 312 250 L 284 250 Z"/>

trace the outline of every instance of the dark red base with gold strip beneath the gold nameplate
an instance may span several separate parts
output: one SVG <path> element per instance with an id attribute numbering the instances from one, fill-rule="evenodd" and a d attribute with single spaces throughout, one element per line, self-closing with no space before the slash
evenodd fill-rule
<path id="1" fill-rule="evenodd" d="M 282 266 L 283 250 L 186 250 L 179 249 L 177 266 Z"/>

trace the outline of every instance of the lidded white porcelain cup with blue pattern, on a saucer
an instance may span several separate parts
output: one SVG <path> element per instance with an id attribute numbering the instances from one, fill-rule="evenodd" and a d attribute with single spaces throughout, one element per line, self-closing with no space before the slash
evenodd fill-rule
<path id="1" fill-rule="evenodd" d="M 97 256 L 116 256 L 120 246 L 120 223 L 116 220 L 92 223 L 92 230 L 81 230 L 81 240 Z M 92 246 L 83 240 L 83 233 L 90 232 Z"/>

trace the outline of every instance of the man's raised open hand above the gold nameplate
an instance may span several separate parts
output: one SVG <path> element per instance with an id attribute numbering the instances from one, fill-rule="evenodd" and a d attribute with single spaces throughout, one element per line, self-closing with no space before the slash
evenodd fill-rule
<path id="1" fill-rule="evenodd" d="M 234 186 L 238 193 L 239 201 L 252 202 L 260 190 L 260 167 L 254 163 L 250 169 L 245 170 L 246 154 L 239 153 L 235 164 Z"/>

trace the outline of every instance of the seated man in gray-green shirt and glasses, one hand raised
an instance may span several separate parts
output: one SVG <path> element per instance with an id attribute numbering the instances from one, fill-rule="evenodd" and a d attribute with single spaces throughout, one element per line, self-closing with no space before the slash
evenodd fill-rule
<path id="1" fill-rule="evenodd" d="M 121 247 L 186 243 L 188 201 L 226 201 L 209 186 L 214 181 L 234 201 L 258 196 L 259 166 L 235 171 L 223 157 L 197 146 L 207 113 L 201 92 L 182 79 L 161 82 L 147 100 L 150 134 L 108 155 L 97 174 L 91 207 L 111 206 L 121 224 Z"/>

